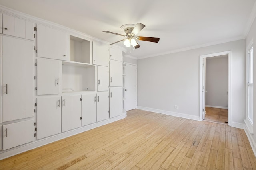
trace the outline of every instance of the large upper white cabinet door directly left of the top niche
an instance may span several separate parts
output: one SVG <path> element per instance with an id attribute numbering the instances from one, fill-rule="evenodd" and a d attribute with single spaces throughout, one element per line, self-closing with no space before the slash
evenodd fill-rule
<path id="1" fill-rule="evenodd" d="M 67 60 L 66 33 L 54 28 L 37 24 L 37 56 Z"/>

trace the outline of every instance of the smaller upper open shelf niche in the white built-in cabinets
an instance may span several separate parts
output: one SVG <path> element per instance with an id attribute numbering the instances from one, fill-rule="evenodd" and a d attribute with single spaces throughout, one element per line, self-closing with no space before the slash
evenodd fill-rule
<path id="1" fill-rule="evenodd" d="M 91 42 L 70 35 L 70 61 L 92 64 Z"/>

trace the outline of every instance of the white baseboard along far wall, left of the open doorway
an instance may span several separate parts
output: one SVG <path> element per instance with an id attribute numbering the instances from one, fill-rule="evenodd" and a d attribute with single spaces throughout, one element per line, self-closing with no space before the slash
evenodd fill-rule
<path id="1" fill-rule="evenodd" d="M 140 110 L 152 111 L 152 112 L 155 112 L 155 113 L 161 113 L 161 114 L 165 114 L 165 115 L 170 115 L 170 116 L 175 116 L 175 117 L 182 117 L 182 118 L 186 118 L 186 119 L 192 119 L 192 120 L 200 121 L 199 116 L 187 115 L 187 114 L 177 113 L 177 112 L 172 112 L 172 111 L 164 111 L 164 110 L 160 110 L 160 109 L 153 109 L 153 108 L 142 107 L 142 106 L 137 106 L 137 108 L 140 109 Z"/>

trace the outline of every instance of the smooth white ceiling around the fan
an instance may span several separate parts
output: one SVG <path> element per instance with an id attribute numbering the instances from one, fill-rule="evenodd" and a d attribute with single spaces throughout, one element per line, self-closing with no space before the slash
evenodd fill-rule
<path id="1" fill-rule="evenodd" d="M 120 26 L 146 25 L 138 36 L 159 37 L 158 43 L 138 41 L 127 54 L 138 59 L 243 39 L 255 17 L 256 0 L 0 0 L 0 5 L 52 21 L 114 43 Z M 124 47 L 122 42 L 117 43 Z M 130 53 L 130 51 L 132 53 Z"/>

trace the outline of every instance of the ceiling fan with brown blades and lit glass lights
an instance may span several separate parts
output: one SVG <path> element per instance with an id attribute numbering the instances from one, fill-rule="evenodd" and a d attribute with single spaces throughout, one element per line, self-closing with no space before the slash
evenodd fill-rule
<path id="1" fill-rule="evenodd" d="M 124 41 L 124 45 L 126 47 L 134 47 L 135 49 L 139 48 L 140 45 L 137 43 L 136 40 L 140 40 L 140 41 L 150 41 L 150 42 L 154 42 L 154 43 L 158 43 L 158 41 L 160 40 L 160 38 L 154 38 L 154 37 L 141 37 L 141 36 L 136 36 L 143 28 L 145 27 L 145 25 L 143 25 L 142 23 L 137 23 L 136 25 L 134 24 L 126 24 L 126 25 L 122 25 L 120 27 L 120 31 L 124 31 L 125 35 L 119 34 L 119 33 L 113 33 L 110 31 L 103 31 L 104 33 L 112 33 L 115 35 L 120 35 L 123 37 L 126 37 L 125 39 L 122 39 L 120 41 L 116 41 L 115 43 L 119 43 L 121 41 Z M 112 43 L 112 44 L 115 44 Z M 112 45 L 110 44 L 110 45 Z"/>

